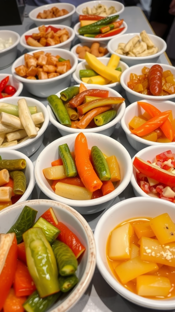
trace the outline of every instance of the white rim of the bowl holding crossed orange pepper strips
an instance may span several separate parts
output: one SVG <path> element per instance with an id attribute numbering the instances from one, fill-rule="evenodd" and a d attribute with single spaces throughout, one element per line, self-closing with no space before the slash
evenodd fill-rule
<path id="1" fill-rule="evenodd" d="M 141 99 L 141 101 L 142 102 L 147 102 L 147 100 L 142 100 L 142 99 Z M 154 102 L 154 105 L 158 104 L 157 101 L 152 101 L 152 102 Z M 161 102 L 165 103 L 165 105 L 166 104 L 170 104 L 170 105 L 172 104 L 174 106 L 174 102 L 169 101 L 169 100 L 165 100 L 165 101 L 161 101 Z M 128 112 L 130 112 L 136 106 L 137 106 L 137 101 L 135 101 L 135 102 L 131 103 L 130 105 L 128 105 L 126 107 L 126 109 L 125 109 L 125 113 L 124 113 L 123 117 L 121 118 L 121 127 L 125 131 L 125 134 L 128 135 L 133 140 L 135 140 L 137 142 L 140 142 L 142 144 L 146 144 L 148 146 L 153 146 L 153 145 L 159 146 L 159 145 L 162 145 L 162 143 L 159 143 L 159 142 L 153 142 L 153 141 L 148 141 L 148 140 L 142 139 L 139 136 L 137 136 L 137 135 L 135 135 L 135 134 L 130 132 L 130 129 L 127 127 L 127 125 L 125 123 L 125 116 L 126 116 L 126 114 L 128 114 Z M 170 144 L 170 143 L 165 143 L 165 146 L 167 146 L 168 144 Z M 171 145 L 174 145 L 174 144 L 175 144 L 175 142 L 171 142 Z"/>

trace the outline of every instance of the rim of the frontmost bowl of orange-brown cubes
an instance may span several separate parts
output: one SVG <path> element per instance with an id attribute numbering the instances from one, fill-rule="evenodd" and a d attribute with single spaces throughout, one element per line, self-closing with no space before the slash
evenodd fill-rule
<path id="1" fill-rule="evenodd" d="M 60 49 L 59 49 L 59 48 L 50 48 L 50 49 L 47 49 L 47 50 L 54 50 L 54 52 L 58 52 L 58 54 L 59 54 L 59 52 L 64 53 L 64 49 L 61 49 L 61 48 L 60 48 Z M 32 53 L 35 53 L 35 52 L 38 52 L 38 51 L 41 51 L 41 49 L 29 51 L 29 52 L 27 52 L 26 54 L 32 54 Z M 49 52 L 49 51 L 47 51 L 47 52 Z M 52 51 L 50 51 L 50 52 L 52 53 Z M 69 50 L 65 50 L 65 53 L 68 53 L 70 56 L 73 57 L 74 64 L 73 64 L 73 66 L 71 67 L 71 69 L 69 69 L 69 71 L 67 71 L 66 73 L 64 73 L 64 74 L 62 74 L 62 75 L 60 75 L 60 76 L 53 77 L 53 78 L 51 78 L 51 79 L 48 78 L 48 79 L 41 79 L 41 80 L 32 80 L 32 79 L 26 79 L 26 78 L 23 78 L 23 77 L 17 75 L 16 72 L 15 72 L 15 67 L 16 67 L 17 62 L 19 62 L 19 61 L 20 61 L 20 62 L 24 61 L 24 54 L 21 55 L 20 57 L 18 57 L 18 58 L 13 62 L 12 68 L 11 68 L 11 70 L 12 70 L 12 75 L 13 75 L 17 80 L 20 80 L 20 81 L 23 82 L 23 83 L 29 83 L 29 84 L 35 83 L 35 84 L 38 84 L 38 85 L 40 85 L 40 84 L 50 84 L 50 83 L 52 83 L 52 82 L 54 82 L 54 81 L 57 81 L 57 80 L 59 80 L 59 79 L 61 79 L 61 78 L 65 78 L 65 77 L 67 77 L 69 74 L 72 74 L 73 71 L 75 71 L 75 69 L 76 69 L 76 67 L 77 67 L 77 65 L 78 65 L 77 57 L 76 57 L 72 52 L 70 52 Z M 23 63 L 24 63 L 24 62 L 23 62 Z M 22 65 L 22 64 L 21 64 L 21 65 Z"/>

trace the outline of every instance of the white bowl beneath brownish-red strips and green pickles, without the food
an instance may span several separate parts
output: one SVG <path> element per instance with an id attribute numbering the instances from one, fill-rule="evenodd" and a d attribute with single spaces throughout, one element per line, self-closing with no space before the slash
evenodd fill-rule
<path id="1" fill-rule="evenodd" d="M 77 85 L 79 87 L 79 85 Z M 86 85 L 87 89 L 97 89 L 97 85 Z M 104 86 L 100 86 L 98 85 L 98 89 L 101 90 L 108 90 L 109 91 L 109 96 L 116 96 L 116 97 L 120 97 L 121 95 L 116 92 L 115 90 L 111 89 L 111 88 L 107 88 Z M 62 90 L 63 91 L 63 90 Z M 61 91 L 60 91 L 61 92 Z M 57 93 L 58 97 L 60 97 L 60 92 Z M 103 126 L 97 126 L 95 128 L 91 128 L 91 129 L 74 129 L 74 128 L 70 128 L 70 127 L 66 127 L 63 124 L 60 124 L 59 121 L 56 119 L 50 105 L 47 105 L 47 110 L 49 112 L 49 119 L 50 122 L 57 127 L 57 129 L 59 130 L 61 135 L 67 135 L 67 134 L 71 134 L 71 133 L 80 133 L 83 131 L 84 134 L 86 134 L 87 132 L 93 132 L 93 133 L 100 133 L 100 134 L 105 134 L 107 136 L 111 136 L 111 134 L 114 132 L 116 124 L 121 120 L 121 118 L 123 117 L 124 113 L 125 113 L 125 102 L 123 102 L 119 109 L 117 110 L 117 115 L 116 117 L 111 120 L 108 124 L 104 124 Z M 114 105 L 114 109 L 115 109 L 115 105 Z"/>

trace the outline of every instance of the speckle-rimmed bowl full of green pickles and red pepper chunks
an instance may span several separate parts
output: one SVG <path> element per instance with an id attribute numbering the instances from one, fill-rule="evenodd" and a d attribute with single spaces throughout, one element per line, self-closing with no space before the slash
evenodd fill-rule
<path id="1" fill-rule="evenodd" d="M 4 284 L 0 285 L 1 294 L 4 294 L 0 298 L 0 309 L 6 305 L 10 291 L 9 295 L 15 293 L 18 299 L 21 297 L 21 306 L 23 304 L 25 311 L 70 310 L 87 290 L 96 265 L 95 241 L 87 221 L 68 205 L 36 199 L 16 203 L 0 211 L 0 228 L 2 244 L 8 245 L 9 253 L 12 244 L 19 251 L 25 243 L 23 253 L 11 252 L 11 265 L 17 268 L 17 271 L 13 270 L 16 276 L 18 269 L 26 272 L 28 268 L 30 285 L 25 288 L 25 296 L 21 297 L 15 286 L 18 285 L 16 278 L 13 283 L 13 276 L 8 275 L 6 293 L 3 291 Z M 48 233 L 43 231 L 44 228 Z M 63 228 L 69 242 L 61 235 Z M 4 257 L 8 261 L 7 254 Z M 22 287 L 21 292 L 24 291 Z"/>

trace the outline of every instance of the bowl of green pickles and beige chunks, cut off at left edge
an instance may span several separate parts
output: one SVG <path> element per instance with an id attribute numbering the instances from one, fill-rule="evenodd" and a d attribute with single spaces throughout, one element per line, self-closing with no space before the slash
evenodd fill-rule
<path id="1" fill-rule="evenodd" d="M 35 186 L 31 160 L 16 150 L 0 152 L 0 210 L 14 203 L 31 199 Z"/>

